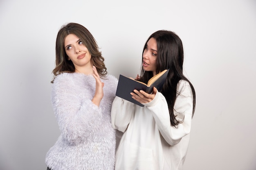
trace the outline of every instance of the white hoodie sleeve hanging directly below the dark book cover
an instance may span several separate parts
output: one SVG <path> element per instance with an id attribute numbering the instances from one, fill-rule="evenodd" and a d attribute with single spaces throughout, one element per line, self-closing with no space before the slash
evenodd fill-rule
<path id="1" fill-rule="evenodd" d="M 112 127 L 124 132 L 130 123 L 132 115 L 134 115 L 134 104 L 116 96 L 111 109 Z"/>

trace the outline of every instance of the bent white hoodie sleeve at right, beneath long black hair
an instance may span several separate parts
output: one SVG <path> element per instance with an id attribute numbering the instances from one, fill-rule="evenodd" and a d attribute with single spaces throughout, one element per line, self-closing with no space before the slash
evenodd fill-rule
<path id="1" fill-rule="evenodd" d="M 171 125 L 168 105 L 164 96 L 157 92 L 155 98 L 144 104 L 153 114 L 157 127 L 170 145 L 175 145 L 180 142 L 182 137 L 190 133 L 192 112 L 193 112 L 193 97 L 191 87 L 188 82 L 180 81 L 177 88 L 177 98 L 174 105 L 174 115 L 178 121 L 182 121 L 176 127 Z"/>

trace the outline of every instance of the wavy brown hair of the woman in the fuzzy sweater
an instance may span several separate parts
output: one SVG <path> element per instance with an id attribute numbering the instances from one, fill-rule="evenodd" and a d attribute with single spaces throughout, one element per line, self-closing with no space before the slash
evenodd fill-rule
<path id="1" fill-rule="evenodd" d="M 65 52 L 64 41 L 67 35 L 74 34 L 76 35 L 82 42 L 83 45 L 89 50 L 90 54 L 92 55 L 91 62 L 96 67 L 99 76 L 104 77 L 108 74 L 107 68 L 104 64 L 104 58 L 99 51 L 98 44 L 90 31 L 84 26 L 77 24 L 77 23 L 68 23 L 63 25 L 61 29 L 58 31 L 57 38 L 56 38 L 56 60 L 55 65 L 56 67 L 52 71 L 54 74 L 53 80 L 51 83 L 54 82 L 54 78 L 63 72 L 75 72 L 74 64 L 71 60 L 68 60 L 68 56 Z"/>

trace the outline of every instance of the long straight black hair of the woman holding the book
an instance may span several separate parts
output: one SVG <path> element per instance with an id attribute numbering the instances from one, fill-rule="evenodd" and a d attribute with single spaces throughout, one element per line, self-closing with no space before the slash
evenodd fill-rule
<path id="1" fill-rule="evenodd" d="M 181 123 L 182 121 L 178 121 L 175 118 L 173 111 L 177 95 L 177 83 L 180 80 L 185 80 L 189 82 L 193 95 L 192 117 L 195 112 L 195 89 L 191 82 L 183 74 L 184 53 L 182 41 L 180 37 L 178 37 L 178 35 L 176 35 L 174 32 L 166 30 L 156 31 L 155 33 L 150 35 L 150 37 L 148 37 L 148 40 L 150 38 L 155 38 L 157 41 L 157 58 L 155 62 L 156 74 L 162 72 L 165 69 L 170 69 L 161 93 L 166 98 L 168 104 L 171 124 L 173 126 L 177 126 L 177 124 Z M 147 47 L 148 40 L 145 43 L 143 52 Z M 146 83 L 152 76 L 153 72 L 145 71 L 141 65 L 141 78 L 139 79 L 139 81 Z"/>

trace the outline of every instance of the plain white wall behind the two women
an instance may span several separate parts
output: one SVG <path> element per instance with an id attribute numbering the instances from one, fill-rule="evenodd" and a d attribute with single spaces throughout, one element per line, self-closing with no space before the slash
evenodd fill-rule
<path id="1" fill-rule="evenodd" d="M 67 22 L 89 29 L 117 78 L 139 73 L 151 33 L 177 33 L 197 94 L 184 170 L 256 169 L 255 0 L 0 0 L 0 170 L 46 170 L 60 134 L 55 40 Z"/>

